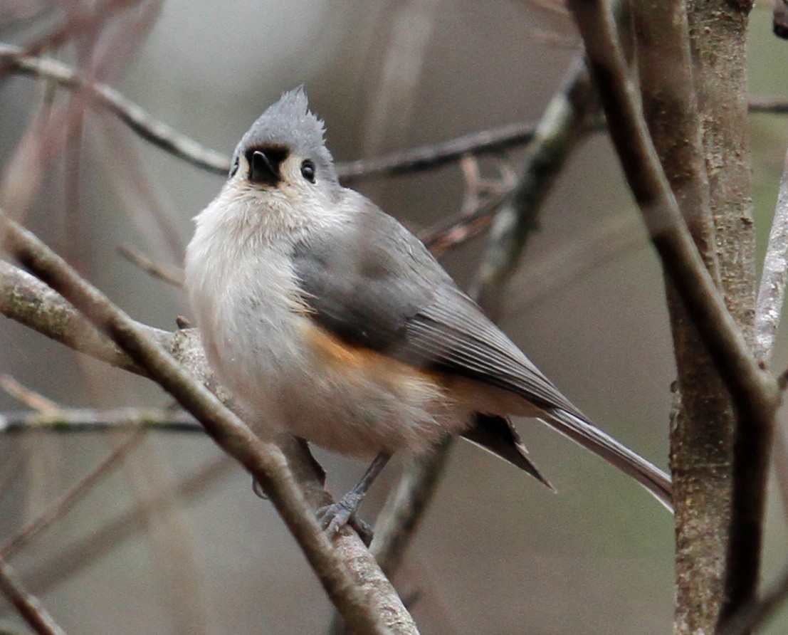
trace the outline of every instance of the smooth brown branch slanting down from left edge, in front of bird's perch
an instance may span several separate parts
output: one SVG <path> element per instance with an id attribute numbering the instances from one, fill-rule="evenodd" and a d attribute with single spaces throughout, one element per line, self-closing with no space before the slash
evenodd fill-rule
<path id="1" fill-rule="evenodd" d="M 320 529 L 314 511 L 293 478 L 281 450 L 266 444 L 202 384 L 191 379 L 170 355 L 136 322 L 128 318 L 97 289 L 82 280 L 67 263 L 30 232 L 0 214 L 6 247 L 20 262 L 62 292 L 84 315 L 142 366 L 149 376 L 172 394 L 203 423 L 206 432 L 249 470 L 271 499 L 288 529 L 299 542 L 330 599 L 351 629 L 383 633 L 386 626 L 401 633 L 416 633 L 410 616 L 393 589 L 378 588 L 376 602 L 359 589 L 346 568 L 342 553 L 334 549 Z M 385 585 L 385 578 L 379 581 Z M 381 606 L 381 602 L 385 604 Z M 380 612 L 378 612 L 380 611 Z M 380 622 L 386 619 L 386 626 Z M 396 623 L 392 623 L 391 620 Z"/>

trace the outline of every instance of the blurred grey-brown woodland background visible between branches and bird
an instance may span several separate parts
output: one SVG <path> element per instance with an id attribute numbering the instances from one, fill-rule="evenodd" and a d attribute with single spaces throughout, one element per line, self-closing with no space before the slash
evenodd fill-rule
<path id="1" fill-rule="evenodd" d="M 35 41 L 92 4 L 4 0 L 0 39 Z M 338 161 L 537 120 L 579 46 L 563 6 L 547 0 L 166 0 L 115 2 L 107 16 L 76 45 L 45 52 L 90 69 L 152 116 L 228 154 L 282 91 L 303 84 Z M 771 35 L 771 4 L 757 5 L 752 95 L 788 95 L 786 46 Z M 28 151 L 31 131 L 46 109 L 57 124 L 52 113 L 68 99 L 29 76 L 0 84 L 0 202 L 133 318 L 172 330 L 178 315 L 188 317 L 183 294 L 121 258 L 118 247 L 179 266 L 191 218 L 223 176 L 91 109 L 76 119 L 62 110 L 63 124 L 50 133 L 65 141 L 52 144 L 55 154 L 39 170 L 26 159 L 48 147 L 44 139 L 39 154 Z M 788 122 L 760 114 L 750 122 L 763 251 Z M 516 169 L 522 151 L 510 156 Z M 31 183 L 35 196 L 20 204 L 19 188 L 9 188 L 15 182 Z M 464 191 L 456 163 L 353 187 L 414 231 L 456 214 Z M 564 254 L 598 249 L 600 228 L 616 228 L 601 236 L 619 243 L 602 262 L 578 269 Z M 484 247 L 484 237 L 472 240 L 442 262 L 466 286 Z M 534 298 L 533 272 L 544 270 L 562 282 Z M 500 325 L 533 362 L 608 433 L 667 469 L 675 370 L 660 268 L 603 135 L 571 156 L 504 299 Z M 788 365 L 785 337 L 774 363 Z M 149 382 L 5 318 L 0 373 L 64 406 L 169 404 Z M 0 392 L 0 410 L 19 408 Z M 537 422 L 518 425 L 558 493 L 455 444 L 395 581 L 413 600 L 421 632 L 669 632 L 672 518 L 592 455 Z M 0 544 L 122 438 L 0 436 Z M 364 469 L 321 451 L 318 458 L 335 494 Z M 377 482 L 364 518 L 374 519 L 399 470 Z M 785 513 L 772 498 L 768 574 L 788 551 Z M 332 615 L 273 507 L 199 435 L 148 433 L 12 562 L 69 633 L 325 633 Z M 24 632 L 4 603 L 0 625 Z M 788 620 L 777 620 L 768 632 L 786 628 Z"/>

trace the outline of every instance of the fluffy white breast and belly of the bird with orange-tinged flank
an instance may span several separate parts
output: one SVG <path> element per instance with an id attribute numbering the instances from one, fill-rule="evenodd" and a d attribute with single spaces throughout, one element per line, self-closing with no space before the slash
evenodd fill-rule
<path id="1" fill-rule="evenodd" d="M 422 449 L 464 428 L 470 413 L 432 377 L 383 356 L 365 355 L 370 366 L 362 366 L 327 352 L 290 262 L 303 227 L 280 211 L 223 191 L 197 217 L 185 265 L 210 365 L 255 431 L 363 455 Z"/>

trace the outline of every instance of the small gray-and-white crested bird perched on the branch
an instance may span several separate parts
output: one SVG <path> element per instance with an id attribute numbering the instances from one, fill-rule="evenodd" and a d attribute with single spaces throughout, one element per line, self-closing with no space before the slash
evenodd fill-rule
<path id="1" fill-rule="evenodd" d="M 508 415 L 536 417 L 670 507 L 667 474 L 592 425 L 422 243 L 343 188 L 301 88 L 240 140 L 196 217 L 186 288 L 210 365 L 261 436 L 377 455 L 325 510 L 333 530 L 399 450 L 459 434 L 548 485 Z"/>

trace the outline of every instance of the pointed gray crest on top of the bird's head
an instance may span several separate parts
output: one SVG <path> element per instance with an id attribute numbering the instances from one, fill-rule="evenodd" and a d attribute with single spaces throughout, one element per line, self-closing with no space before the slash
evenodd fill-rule
<path id="1" fill-rule="evenodd" d="M 309 110 L 303 86 L 282 94 L 269 106 L 238 143 L 234 158 L 251 147 L 286 147 L 293 154 L 310 158 L 318 178 L 336 181 L 333 158 L 325 147 L 323 122 Z"/>

